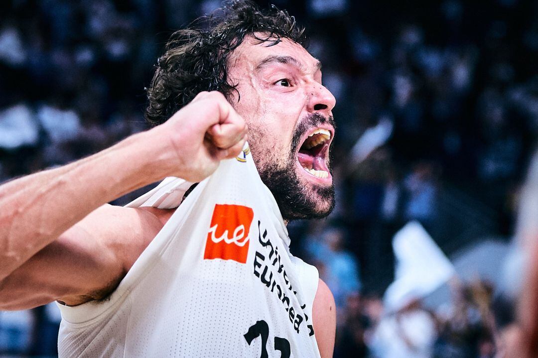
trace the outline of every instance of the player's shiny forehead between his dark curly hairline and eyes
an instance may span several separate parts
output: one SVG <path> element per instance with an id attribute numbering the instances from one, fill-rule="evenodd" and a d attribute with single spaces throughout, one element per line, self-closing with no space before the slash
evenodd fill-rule
<path id="1" fill-rule="evenodd" d="M 320 61 L 315 59 L 304 47 L 289 39 L 282 39 L 277 45 L 267 46 L 271 42 L 261 42 L 247 38 L 230 57 L 230 70 L 256 70 L 272 63 L 290 62 L 305 72 L 321 69 Z"/>

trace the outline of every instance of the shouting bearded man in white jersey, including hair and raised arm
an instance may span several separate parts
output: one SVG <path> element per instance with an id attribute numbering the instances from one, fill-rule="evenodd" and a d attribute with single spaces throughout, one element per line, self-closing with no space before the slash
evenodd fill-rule
<path id="1" fill-rule="evenodd" d="M 175 32 L 151 130 L 0 187 L 0 309 L 57 301 L 60 356 L 332 356 L 334 299 L 285 226 L 334 207 L 335 98 L 304 44 L 249 1 Z M 185 181 L 106 204 L 164 177 Z"/>

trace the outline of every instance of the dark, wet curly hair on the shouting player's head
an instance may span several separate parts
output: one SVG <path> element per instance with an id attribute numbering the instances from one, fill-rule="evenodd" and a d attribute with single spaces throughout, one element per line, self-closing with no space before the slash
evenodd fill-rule
<path id="1" fill-rule="evenodd" d="M 225 2 L 222 9 L 172 34 L 147 89 L 147 121 L 164 123 L 201 91 L 216 90 L 230 98 L 236 84 L 228 82 L 226 67 L 245 37 L 267 46 L 287 38 L 306 47 L 305 29 L 287 11 L 274 5 L 260 10 L 249 0 Z"/>

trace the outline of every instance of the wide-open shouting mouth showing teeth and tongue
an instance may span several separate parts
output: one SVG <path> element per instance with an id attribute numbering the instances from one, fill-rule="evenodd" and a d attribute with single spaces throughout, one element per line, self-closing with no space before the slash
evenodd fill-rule
<path id="1" fill-rule="evenodd" d="M 330 181 L 327 155 L 331 141 L 332 135 L 328 128 L 313 128 L 305 135 L 297 160 L 308 174 Z"/>

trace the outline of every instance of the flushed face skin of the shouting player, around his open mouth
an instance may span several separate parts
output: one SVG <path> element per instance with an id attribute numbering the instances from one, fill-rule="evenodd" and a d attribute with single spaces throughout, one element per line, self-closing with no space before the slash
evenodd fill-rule
<path id="1" fill-rule="evenodd" d="M 285 170 L 285 176 L 296 177 L 296 183 L 287 184 L 300 190 L 299 201 L 307 201 L 318 216 L 326 216 L 334 205 L 334 195 L 327 197 L 323 191 L 331 188 L 332 177 L 320 180 L 306 173 L 292 153 L 293 135 L 298 130 L 303 134 L 322 127 L 331 132 L 331 138 L 334 134 L 328 118 L 336 100 L 321 83 L 320 62 L 288 39 L 269 47 L 267 42 L 247 39 L 233 52 L 230 63 L 229 76 L 240 94 L 231 103 L 249 125 L 249 144 L 262 180 L 276 197 L 278 184 L 272 187 L 268 183 L 271 173 L 267 171 Z M 327 120 L 303 125 L 314 113 Z M 328 155 L 325 163 L 329 166 Z M 276 199 L 285 219 L 301 217 L 286 212 L 286 200 Z"/>

